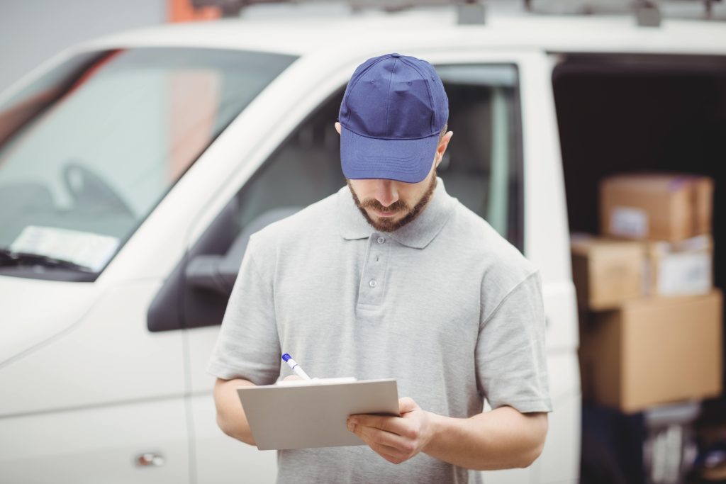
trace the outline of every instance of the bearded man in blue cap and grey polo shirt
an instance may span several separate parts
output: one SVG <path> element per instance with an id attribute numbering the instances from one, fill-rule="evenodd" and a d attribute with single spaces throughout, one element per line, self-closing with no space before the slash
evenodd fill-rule
<path id="1" fill-rule="evenodd" d="M 234 389 L 290 374 L 281 353 L 404 396 L 348 418 L 367 446 L 280 451 L 280 482 L 462 483 L 542 451 L 539 273 L 436 177 L 448 115 L 428 62 L 367 60 L 335 123 L 348 186 L 250 237 L 208 367 L 221 429 L 254 444 Z"/>

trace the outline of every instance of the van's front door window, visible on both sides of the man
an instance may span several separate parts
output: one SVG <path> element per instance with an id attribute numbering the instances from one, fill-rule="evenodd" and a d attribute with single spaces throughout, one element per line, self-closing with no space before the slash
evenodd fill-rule
<path id="1" fill-rule="evenodd" d="M 436 69 L 449 96 L 449 129 L 454 131 L 438 174 L 449 194 L 521 250 L 522 149 L 516 67 L 440 65 Z M 179 274 L 170 277 L 170 287 L 160 291 L 149 311 L 152 331 L 220 324 L 250 235 L 345 184 L 334 127 L 342 98 L 340 89 L 290 134 L 230 200 L 181 263 Z M 172 307 L 170 301 L 179 298 L 179 291 L 171 287 L 175 280 L 183 286 L 183 300 Z M 163 300 L 167 302 L 162 304 Z"/>

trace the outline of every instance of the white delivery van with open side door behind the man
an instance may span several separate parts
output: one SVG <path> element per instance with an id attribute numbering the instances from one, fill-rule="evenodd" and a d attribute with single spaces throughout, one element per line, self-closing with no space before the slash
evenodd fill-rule
<path id="1" fill-rule="evenodd" d="M 0 97 L 0 483 L 274 482 L 274 452 L 217 428 L 205 364 L 249 235 L 344 183 L 343 89 L 385 52 L 435 65 L 454 131 L 447 190 L 542 271 L 547 443 L 531 467 L 484 480 L 578 480 L 568 231 L 595 228 L 597 179 L 656 165 L 669 137 L 687 148 L 670 110 L 726 99 L 721 25 L 457 25 L 449 9 L 224 20 L 103 38 L 42 65 Z M 636 95 L 655 74 L 662 103 Z M 712 108 L 723 120 L 725 105 Z M 629 152 L 624 126 L 640 127 Z"/>

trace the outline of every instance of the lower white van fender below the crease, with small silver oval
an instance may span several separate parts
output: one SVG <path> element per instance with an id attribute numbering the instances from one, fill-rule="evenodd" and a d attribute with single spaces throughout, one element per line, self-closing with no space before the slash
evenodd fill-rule
<path id="1" fill-rule="evenodd" d="M 32 385 L 46 388 L 46 404 L 57 396 L 42 380 Z M 188 448 L 181 398 L 5 417 L 0 482 L 189 483 Z M 146 452 L 162 456 L 163 464 L 137 467 L 136 456 Z"/>

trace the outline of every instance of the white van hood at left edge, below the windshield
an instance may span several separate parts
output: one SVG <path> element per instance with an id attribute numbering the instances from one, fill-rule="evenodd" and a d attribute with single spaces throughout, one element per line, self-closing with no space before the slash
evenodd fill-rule
<path id="1" fill-rule="evenodd" d="M 0 276 L 0 365 L 73 326 L 99 291 L 93 282 Z"/>

